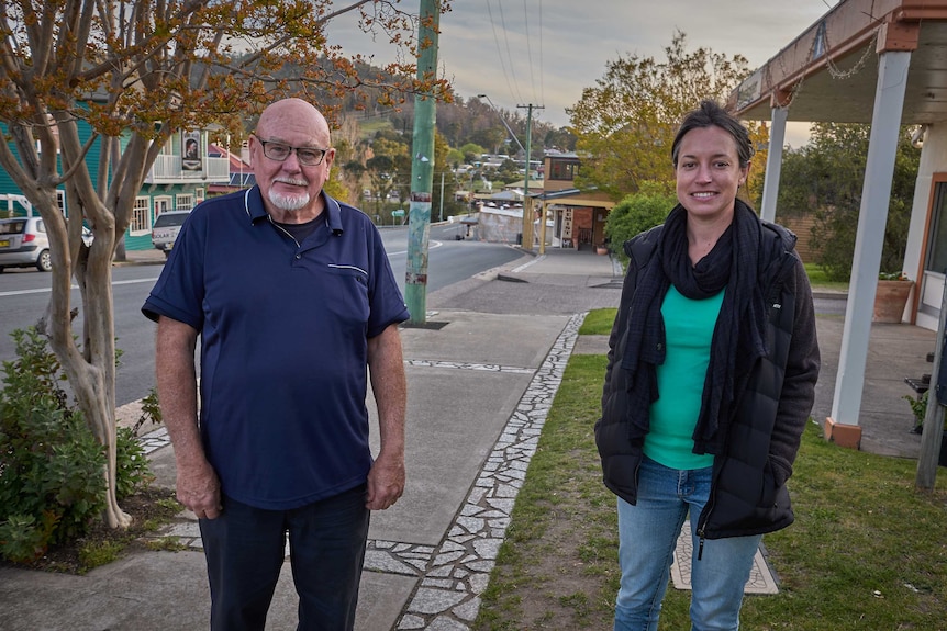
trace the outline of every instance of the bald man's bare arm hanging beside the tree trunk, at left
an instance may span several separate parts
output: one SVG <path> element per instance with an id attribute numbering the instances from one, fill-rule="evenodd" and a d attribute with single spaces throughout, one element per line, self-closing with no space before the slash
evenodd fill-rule
<path id="1" fill-rule="evenodd" d="M 197 340 L 192 327 L 161 316 L 155 372 L 161 418 L 175 449 L 178 502 L 199 518 L 213 519 L 221 511 L 220 481 L 204 454 L 198 428 Z"/>

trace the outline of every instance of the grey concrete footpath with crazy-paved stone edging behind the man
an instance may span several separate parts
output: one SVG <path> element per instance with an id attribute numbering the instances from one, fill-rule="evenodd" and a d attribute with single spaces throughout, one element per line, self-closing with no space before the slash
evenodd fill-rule
<path id="1" fill-rule="evenodd" d="M 428 295 L 427 326 L 402 330 L 408 487 L 394 507 L 372 515 L 358 631 L 469 629 L 569 356 L 606 352 L 604 336 L 580 339 L 578 328 L 588 311 L 617 306 L 620 294 L 621 269 L 609 257 L 550 249 Z M 838 315 L 818 318 L 818 420 L 831 413 L 842 324 Z M 913 417 L 901 396 L 911 391 L 902 380 L 929 372 L 933 345 L 932 331 L 874 327 L 865 449 L 916 457 L 920 437 L 909 431 Z M 172 486 L 164 430 L 148 433 L 145 444 L 158 484 Z M 136 552 L 85 576 L 0 567 L 0 628 L 205 629 L 210 599 L 197 523 L 185 514 L 164 534 L 188 549 Z M 287 563 L 267 629 L 294 629 L 296 607 Z"/>

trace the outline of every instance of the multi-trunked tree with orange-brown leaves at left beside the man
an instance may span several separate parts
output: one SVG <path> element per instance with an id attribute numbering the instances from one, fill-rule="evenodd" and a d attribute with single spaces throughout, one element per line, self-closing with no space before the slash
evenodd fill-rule
<path id="1" fill-rule="evenodd" d="M 124 527 L 130 518 L 114 492 L 111 266 L 161 147 L 181 129 L 211 124 L 242 138 L 246 117 L 279 97 L 305 98 L 333 120 L 352 93 L 392 104 L 412 92 L 444 95 L 447 86 L 415 77 L 416 16 L 399 0 L 0 0 L 0 167 L 46 225 L 53 291 L 41 327 L 108 450 L 104 519 Z M 350 12 L 363 32 L 388 37 L 412 63 L 368 72 L 366 59 L 330 45 L 326 24 Z M 85 313 L 80 343 L 73 279 Z"/>

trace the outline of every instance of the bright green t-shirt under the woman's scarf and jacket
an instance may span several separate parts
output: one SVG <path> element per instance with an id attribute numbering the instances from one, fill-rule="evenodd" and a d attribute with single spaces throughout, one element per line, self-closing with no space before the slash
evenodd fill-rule
<path id="1" fill-rule="evenodd" d="M 670 469 L 688 471 L 713 464 L 713 455 L 693 453 L 693 433 L 725 291 L 693 301 L 671 285 L 661 304 L 667 354 L 657 367 L 658 401 L 650 408 L 644 449 L 645 455 Z"/>

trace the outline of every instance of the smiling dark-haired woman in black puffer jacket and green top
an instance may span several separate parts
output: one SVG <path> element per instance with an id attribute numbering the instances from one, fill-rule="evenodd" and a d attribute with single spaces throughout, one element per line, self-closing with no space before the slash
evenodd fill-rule
<path id="1" fill-rule="evenodd" d="M 739 627 L 765 532 L 789 526 L 786 481 L 818 375 L 809 280 L 795 236 L 737 191 L 753 147 L 713 101 L 671 147 L 679 204 L 624 245 L 595 441 L 617 496 L 615 630 L 656 631 L 690 515 L 692 628 Z"/>

